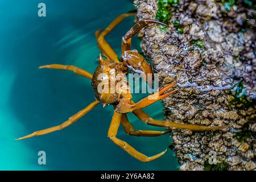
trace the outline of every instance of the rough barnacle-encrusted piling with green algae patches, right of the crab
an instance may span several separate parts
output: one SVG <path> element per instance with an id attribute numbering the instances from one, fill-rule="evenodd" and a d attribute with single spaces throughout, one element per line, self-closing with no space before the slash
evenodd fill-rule
<path id="1" fill-rule="evenodd" d="M 142 50 L 160 84 L 169 121 L 223 131 L 172 130 L 180 170 L 255 170 L 256 42 L 253 1 L 134 1 L 138 20 L 158 19 L 141 31 Z M 160 85 L 161 86 L 161 85 Z"/>

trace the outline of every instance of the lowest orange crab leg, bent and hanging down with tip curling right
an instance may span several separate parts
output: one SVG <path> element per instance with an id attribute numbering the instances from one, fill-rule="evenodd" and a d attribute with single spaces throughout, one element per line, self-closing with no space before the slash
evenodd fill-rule
<path id="1" fill-rule="evenodd" d="M 133 156 L 134 158 L 142 161 L 142 162 L 150 162 L 151 160 L 155 160 L 157 158 L 160 158 L 160 156 L 164 155 L 167 150 L 160 152 L 159 154 L 156 154 L 154 156 L 148 157 L 141 152 L 135 150 L 130 144 L 124 142 L 123 140 L 118 139 L 115 137 L 117 135 L 118 128 L 121 124 L 121 118 L 122 114 L 119 114 L 117 112 L 114 112 L 112 122 L 110 123 L 109 131 L 108 131 L 108 137 L 119 147 L 123 148 L 128 154 Z"/>

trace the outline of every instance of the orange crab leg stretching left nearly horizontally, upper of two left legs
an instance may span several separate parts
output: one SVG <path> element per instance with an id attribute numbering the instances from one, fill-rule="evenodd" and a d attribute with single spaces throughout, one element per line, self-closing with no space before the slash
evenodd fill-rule
<path id="1" fill-rule="evenodd" d="M 84 69 L 81 68 L 77 68 L 73 65 L 62 65 L 62 64 L 50 64 L 50 65 L 43 65 L 41 68 L 50 68 L 50 69 L 65 69 L 68 71 L 72 71 L 74 73 L 76 73 L 77 75 L 81 75 L 84 76 L 86 78 L 92 79 L 92 74 L 89 72 L 86 72 Z"/>

